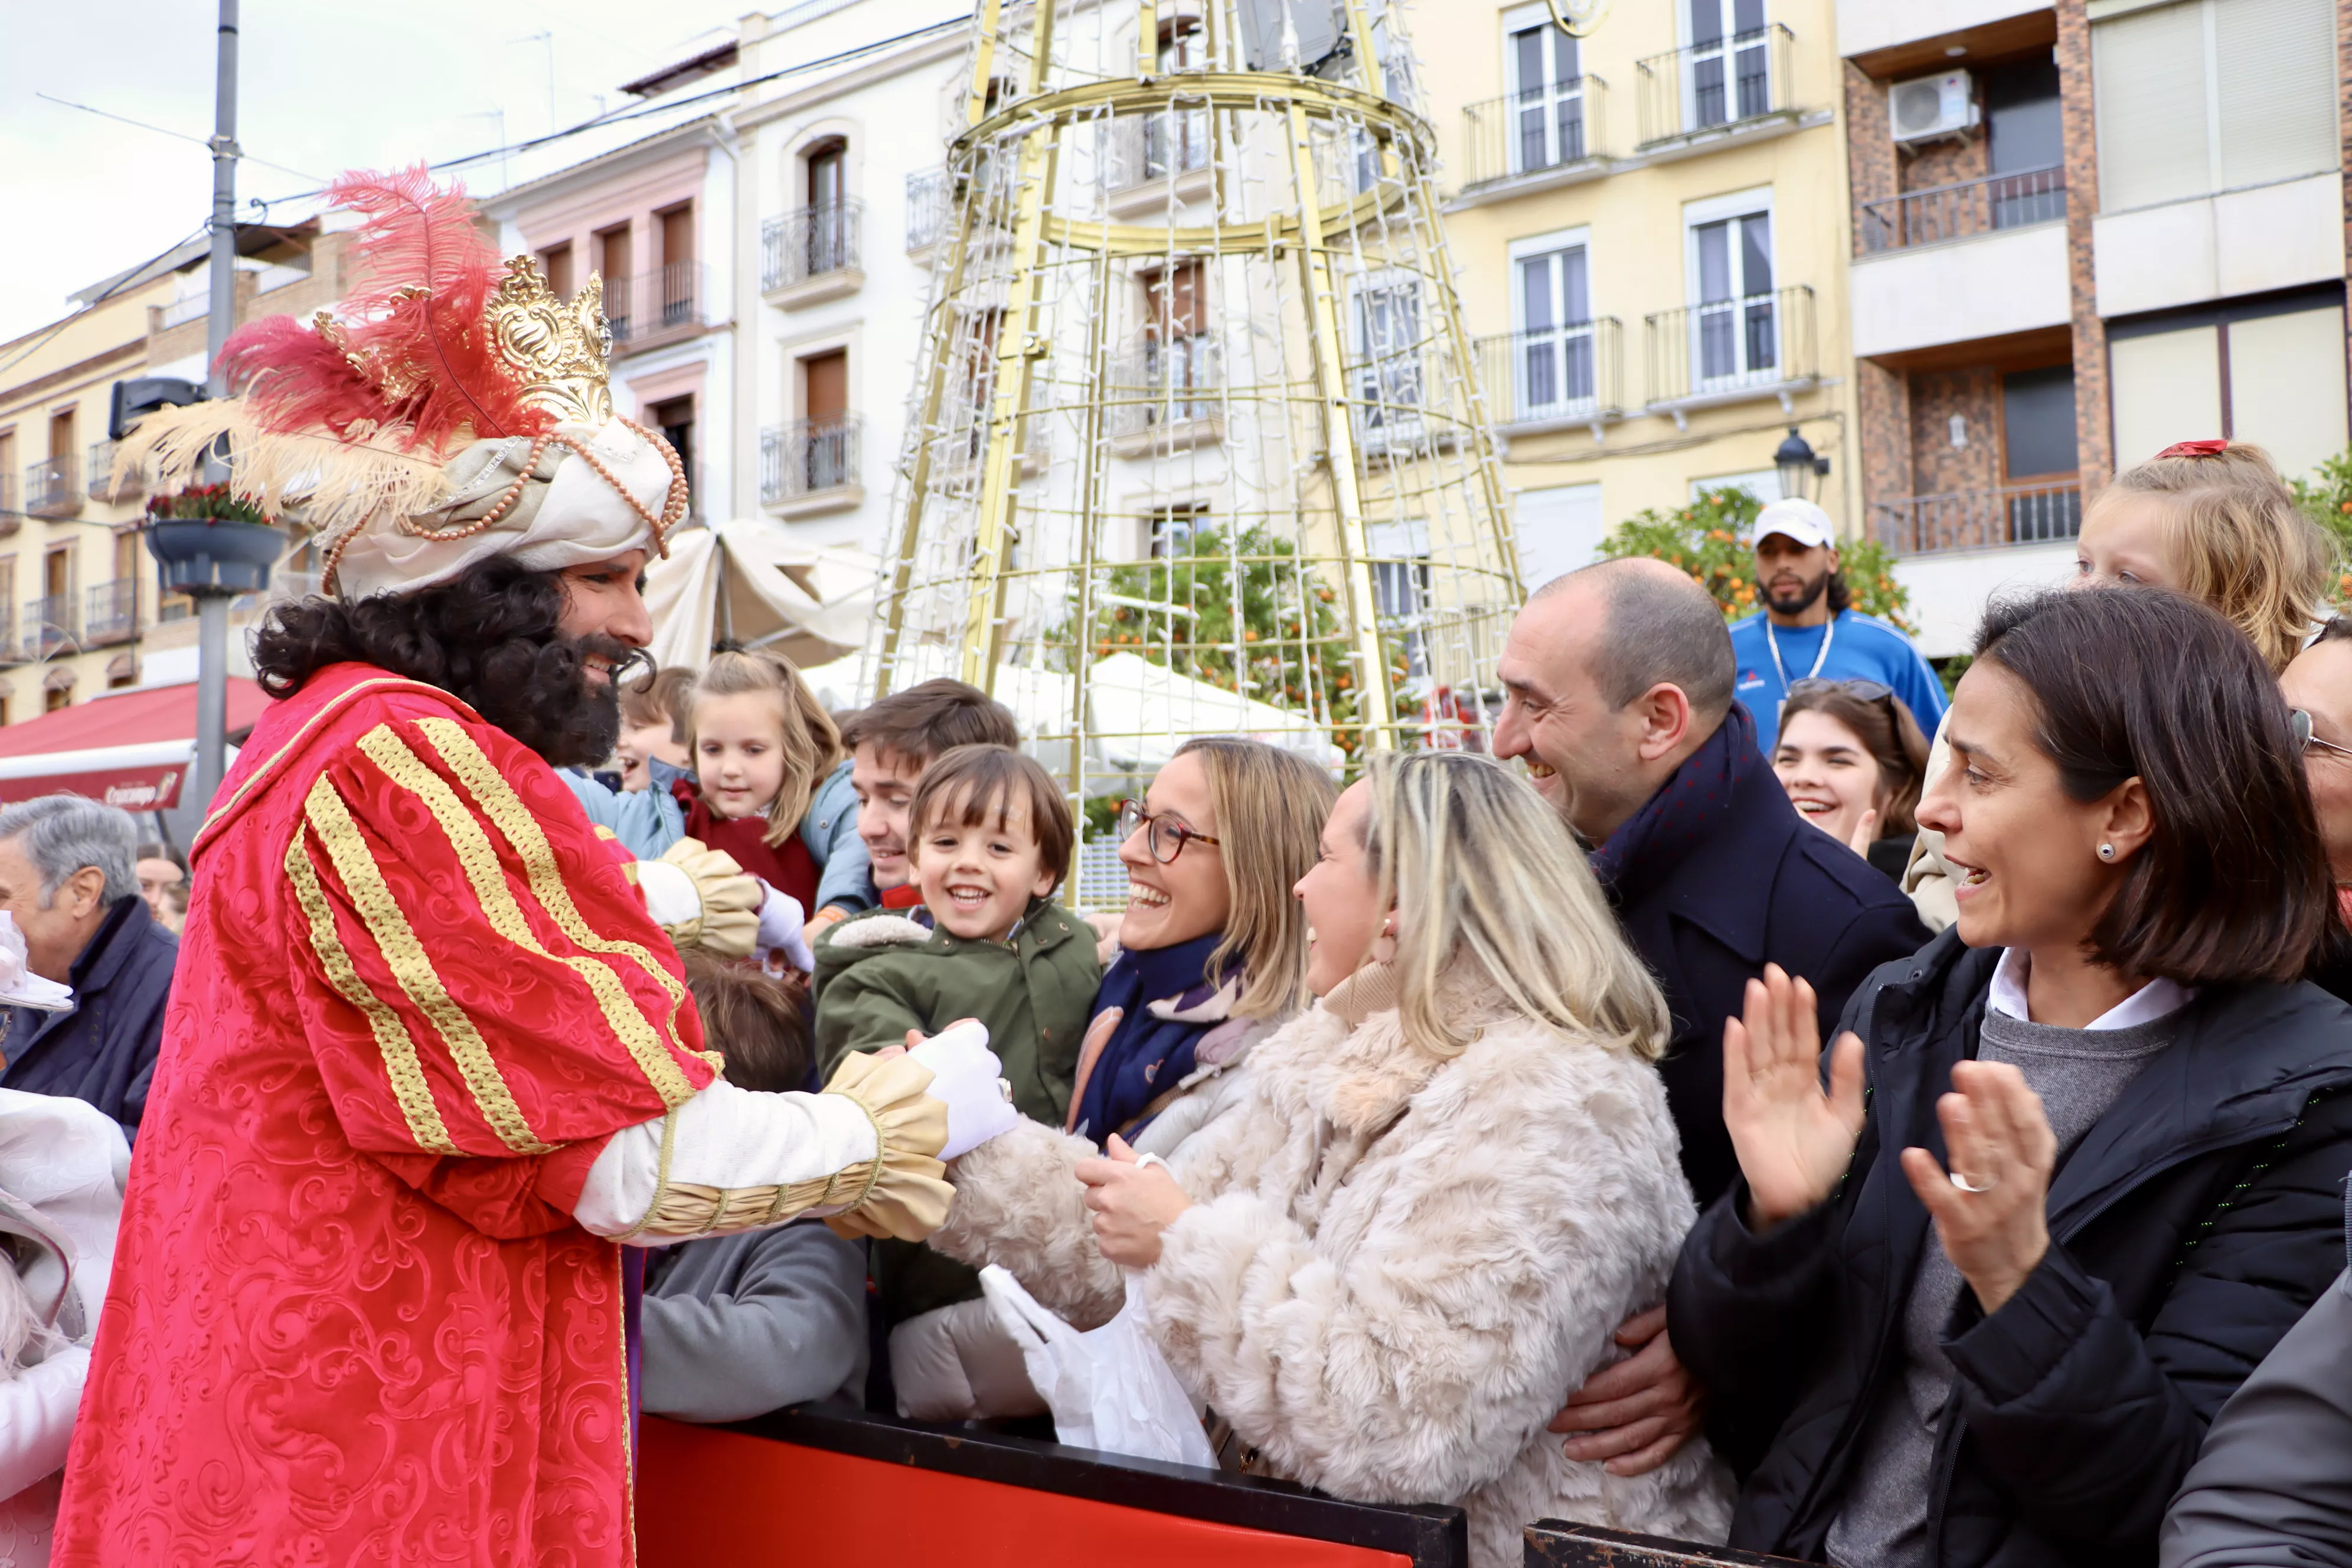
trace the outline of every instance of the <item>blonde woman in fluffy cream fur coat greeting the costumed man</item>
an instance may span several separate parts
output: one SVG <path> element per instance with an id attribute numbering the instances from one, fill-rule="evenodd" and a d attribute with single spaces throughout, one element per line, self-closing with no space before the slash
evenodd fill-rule
<path id="1" fill-rule="evenodd" d="M 1703 1443 L 1613 1476 L 1545 1434 L 1693 1215 L 1665 1001 L 1557 811 L 1484 757 L 1378 752 L 1296 893 L 1319 1001 L 1256 1046 L 1242 1105 L 1164 1161 L 997 1138 L 934 1246 L 1080 1326 L 1138 1269 L 1230 1460 L 1461 1502 L 1477 1568 L 1543 1516 L 1722 1540 Z"/>

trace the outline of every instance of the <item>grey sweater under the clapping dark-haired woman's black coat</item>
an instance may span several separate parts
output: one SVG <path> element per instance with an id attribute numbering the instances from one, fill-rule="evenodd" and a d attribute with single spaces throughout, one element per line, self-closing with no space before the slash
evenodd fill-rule
<path id="1" fill-rule="evenodd" d="M 2058 1161 L 2074 1152 L 2140 1067 L 2173 1039 L 2178 1011 L 2129 1030 L 2058 1030 L 1987 1009 L 1976 1060 L 2009 1063 L 2042 1095 L 2058 1135 Z M 1891 1154 L 1891 1152 L 1889 1152 Z M 1828 1556 L 1839 1568 L 1924 1568 L 1936 1432 L 1952 1399 L 1943 1331 L 1966 1281 L 1943 1246 L 1929 1241 L 1903 1312 L 1903 1373 L 1870 1418 L 1863 1462 L 1846 1507 L 1830 1523 Z"/>

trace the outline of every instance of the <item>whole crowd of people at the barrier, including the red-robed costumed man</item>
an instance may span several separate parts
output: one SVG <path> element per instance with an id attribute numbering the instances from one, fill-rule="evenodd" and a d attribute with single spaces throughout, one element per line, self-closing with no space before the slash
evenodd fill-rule
<path id="1" fill-rule="evenodd" d="M 677 454 L 376 303 L 165 416 L 341 529 L 188 856 L 0 809 L 0 1559 L 628 1561 L 640 1410 L 1049 1429 L 1002 1267 L 1477 1568 L 2352 1563 L 2352 625 L 2258 449 L 1950 701 L 1809 503 L 1731 628 L 1573 571 L 1486 755 L 1190 741 L 1077 910 L 1002 705 L 640 670 Z"/>

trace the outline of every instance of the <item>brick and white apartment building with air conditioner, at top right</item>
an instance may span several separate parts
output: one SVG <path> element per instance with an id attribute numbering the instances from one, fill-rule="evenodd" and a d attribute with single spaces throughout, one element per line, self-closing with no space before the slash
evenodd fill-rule
<path id="1" fill-rule="evenodd" d="M 1837 0 L 1867 527 L 1922 646 L 2176 440 L 2347 444 L 2343 0 Z"/>

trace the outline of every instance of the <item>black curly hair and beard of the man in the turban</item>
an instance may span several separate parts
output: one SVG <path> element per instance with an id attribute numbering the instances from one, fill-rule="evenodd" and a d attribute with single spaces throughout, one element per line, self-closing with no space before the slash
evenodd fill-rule
<path id="1" fill-rule="evenodd" d="M 327 665 L 376 665 L 440 686 L 553 766 L 595 766 L 621 738 L 621 679 L 644 654 L 564 637 L 562 614 L 562 574 L 492 555 L 409 595 L 275 607 L 254 635 L 254 675 L 292 696 Z M 588 682 L 590 654 L 612 661 L 609 682 Z"/>

